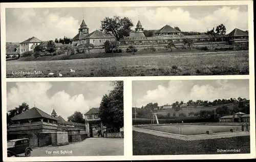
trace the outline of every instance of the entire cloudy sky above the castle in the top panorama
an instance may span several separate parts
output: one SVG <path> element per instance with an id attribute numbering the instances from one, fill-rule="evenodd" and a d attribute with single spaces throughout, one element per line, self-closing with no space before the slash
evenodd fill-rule
<path id="1" fill-rule="evenodd" d="M 139 19 L 145 30 L 170 25 L 182 31 L 206 32 L 220 24 L 227 33 L 234 28 L 248 30 L 247 6 L 7 8 L 6 41 L 22 42 L 33 36 L 43 41 L 73 38 L 82 18 L 93 32 L 100 29 L 101 20 L 114 15 L 131 18 L 133 29 Z"/>

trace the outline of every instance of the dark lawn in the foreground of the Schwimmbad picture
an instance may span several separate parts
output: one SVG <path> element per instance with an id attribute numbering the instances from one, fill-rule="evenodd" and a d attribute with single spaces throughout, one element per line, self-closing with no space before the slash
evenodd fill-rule
<path id="1" fill-rule="evenodd" d="M 133 131 L 133 155 L 223 154 L 218 149 L 250 153 L 250 136 L 182 141 Z"/>

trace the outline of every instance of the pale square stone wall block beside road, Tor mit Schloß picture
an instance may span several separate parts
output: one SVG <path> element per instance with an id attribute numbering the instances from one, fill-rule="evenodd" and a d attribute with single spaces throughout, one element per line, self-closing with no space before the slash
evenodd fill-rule
<path id="1" fill-rule="evenodd" d="M 52 133 L 52 146 L 68 145 L 68 132 L 54 132 Z"/>

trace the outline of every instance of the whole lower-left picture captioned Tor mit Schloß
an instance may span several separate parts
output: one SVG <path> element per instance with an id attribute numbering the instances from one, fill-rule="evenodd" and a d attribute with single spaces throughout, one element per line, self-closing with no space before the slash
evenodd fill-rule
<path id="1" fill-rule="evenodd" d="M 121 156 L 123 81 L 7 82 L 7 157 Z"/>

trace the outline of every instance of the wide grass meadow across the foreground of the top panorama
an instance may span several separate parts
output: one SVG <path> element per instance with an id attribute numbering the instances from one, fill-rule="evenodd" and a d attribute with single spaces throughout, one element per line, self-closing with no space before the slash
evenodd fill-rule
<path id="1" fill-rule="evenodd" d="M 179 76 L 249 74 L 248 51 L 148 54 L 54 61 L 8 61 L 7 77 Z M 70 72 L 70 68 L 75 73 Z M 12 72 L 41 71 L 41 75 L 13 75 Z M 51 76 L 58 77 L 58 75 Z"/>

